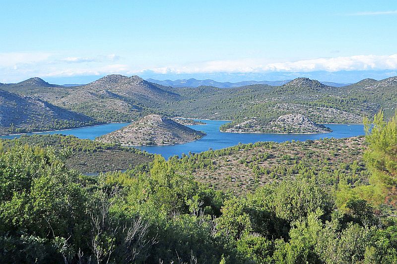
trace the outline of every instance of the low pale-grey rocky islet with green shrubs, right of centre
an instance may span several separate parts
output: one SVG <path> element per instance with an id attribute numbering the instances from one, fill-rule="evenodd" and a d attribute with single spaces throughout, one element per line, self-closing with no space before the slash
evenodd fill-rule
<path id="1" fill-rule="evenodd" d="M 284 114 L 270 120 L 258 117 L 246 118 L 242 122 L 232 122 L 220 127 L 221 132 L 229 133 L 281 133 L 314 134 L 329 133 L 331 128 L 317 124 L 302 114 Z"/>

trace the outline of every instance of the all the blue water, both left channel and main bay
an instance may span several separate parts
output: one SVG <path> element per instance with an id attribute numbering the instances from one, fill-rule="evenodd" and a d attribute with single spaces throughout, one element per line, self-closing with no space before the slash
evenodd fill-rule
<path id="1" fill-rule="evenodd" d="M 201 119 L 197 119 L 201 120 Z M 199 140 L 178 145 L 169 146 L 139 146 L 136 147 L 145 150 L 149 153 L 161 154 L 164 158 L 169 158 L 174 155 L 188 154 L 189 152 L 202 152 L 209 149 L 218 150 L 237 145 L 239 143 L 255 143 L 258 141 L 274 141 L 284 142 L 291 140 L 305 141 L 308 139 L 320 138 L 346 138 L 358 135 L 364 135 L 363 125 L 336 125 L 327 124 L 333 132 L 322 134 L 256 134 L 256 133 L 222 133 L 219 131 L 219 126 L 228 121 L 220 120 L 201 120 L 206 125 L 189 126 L 196 130 L 204 131 L 207 135 Z M 81 139 L 95 139 L 98 136 L 110 133 L 120 129 L 130 123 L 111 123 L 100 126 L 76 128 L 62 131 L 41 132 L 36 134 L 64 134 L 73 135 Z M 31 135 L 31 134 L 29 134 Z M 1 136 L 1 138 L 15 138 L 20 135 Z"/>

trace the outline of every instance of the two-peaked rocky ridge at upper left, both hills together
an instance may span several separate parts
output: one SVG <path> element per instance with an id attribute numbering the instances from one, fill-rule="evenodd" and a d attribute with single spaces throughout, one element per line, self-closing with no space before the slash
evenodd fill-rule
<path id="1" fill-rule="evenodd" d="M 123 75 L 107 75 L 86 85 L 69 87 L 31 78 L 1 88 L 19 95 L 38 97 L 101 122 L 131 121 L 149 113 L 161 112 L 149 108 L 179 98 L 178 94 L 163 90 L 161 85 L 138 76 Z"/>

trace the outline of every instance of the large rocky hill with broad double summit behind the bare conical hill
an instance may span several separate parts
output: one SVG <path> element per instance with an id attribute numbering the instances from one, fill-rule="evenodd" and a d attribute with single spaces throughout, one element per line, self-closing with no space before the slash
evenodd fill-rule
<path id="1" fill-rule="evenodd" d="M 50 102 L 104 122 L 129 121 L 152 113 L 148 108 L 179 98 L 161 87 L 138 76 L 113 74 L 87 85 L 68 87 L 65 96 Z"/>

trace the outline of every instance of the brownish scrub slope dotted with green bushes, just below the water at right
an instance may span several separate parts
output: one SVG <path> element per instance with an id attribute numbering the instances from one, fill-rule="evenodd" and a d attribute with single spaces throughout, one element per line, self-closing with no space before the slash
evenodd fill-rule
<path id="1" fill-rule="evenodd" d="M 324 186 L 367 182 L 363 151 L 363 137 L 257 142 L 184 156 L 181 162 L 192 166 L 196 180 L 244 194 L 270 182 L 293 179 L 307 168 Z"/>

